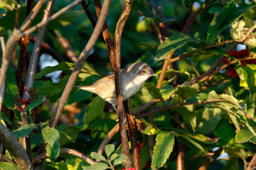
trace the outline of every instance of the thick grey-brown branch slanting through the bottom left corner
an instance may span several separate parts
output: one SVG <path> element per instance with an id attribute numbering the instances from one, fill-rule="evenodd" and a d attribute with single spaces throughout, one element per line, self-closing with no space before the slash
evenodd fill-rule
<path id="1" fill-rule="evenodd" d="M 28 155 L 16 140 L 16 137 L 8 130 L 3 123 L 0 123 L 0 142 L 10 152 L 19 169 L 31 169 L 31 162 Z"/>

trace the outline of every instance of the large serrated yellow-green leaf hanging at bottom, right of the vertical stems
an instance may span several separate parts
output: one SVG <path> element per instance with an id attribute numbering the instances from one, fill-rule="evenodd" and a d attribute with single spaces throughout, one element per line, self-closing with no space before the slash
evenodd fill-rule
<path id="1" fill-rule="evenodd" d="M 174 135 L 171 132 L 161 131 L 156 136 L 156 145 L 154 146 L 152 169 L 159 169 L 164 166 L 174 149 Z"/>

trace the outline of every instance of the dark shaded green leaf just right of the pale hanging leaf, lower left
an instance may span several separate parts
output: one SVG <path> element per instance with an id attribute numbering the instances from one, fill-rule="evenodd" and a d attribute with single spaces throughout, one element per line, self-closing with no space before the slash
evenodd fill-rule
<path id="1" fill-rule="evenodd" d="M 80 128 L 73 125 L 61 124 L 57 130 L 60 132 L 60 146 L 66 145 L 70 142 L 75 142 L 80 132 Z"/>

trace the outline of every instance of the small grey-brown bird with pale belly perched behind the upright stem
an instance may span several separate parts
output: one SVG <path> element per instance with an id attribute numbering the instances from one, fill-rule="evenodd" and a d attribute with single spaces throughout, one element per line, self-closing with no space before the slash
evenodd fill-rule
<path id="1" fill-rule="evenodd" d="M 125 69 L 121 69 L 122 101 L 125 101 L 127 98 L 136 94 L 149 77 L 158 77 L 158 75 L 144 62 L 136 62 L 130 64 L 129 67 Z M 117 111 L 114 74 L 102 77 L 102 79 L 99 79 L 88 86 L 74 87 L 97 94 L 108 103 L 111 103 L 114 110 Z"/>

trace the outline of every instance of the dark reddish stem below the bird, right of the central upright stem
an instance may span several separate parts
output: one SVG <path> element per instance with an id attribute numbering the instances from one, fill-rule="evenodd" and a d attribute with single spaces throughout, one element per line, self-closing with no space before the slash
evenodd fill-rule
<path id="1" fill-rule="evenodd" d="M 127 125 L 129 130 L 129 138 L 131 140 L 132 144 L 132 155 L 133 155 L 133 162 L 134 162 L 134 168 L 137 170 L 141 169 L 140 161 L 139 161 L 139 147 L 137 144 L 137 138 L 136 138 L 136 130 L 135 130 L 135 121 L 132 117 L 132 111 L 129 103 L 129 98 L 124 101 L 124 111 L 127 118 Z"/>

